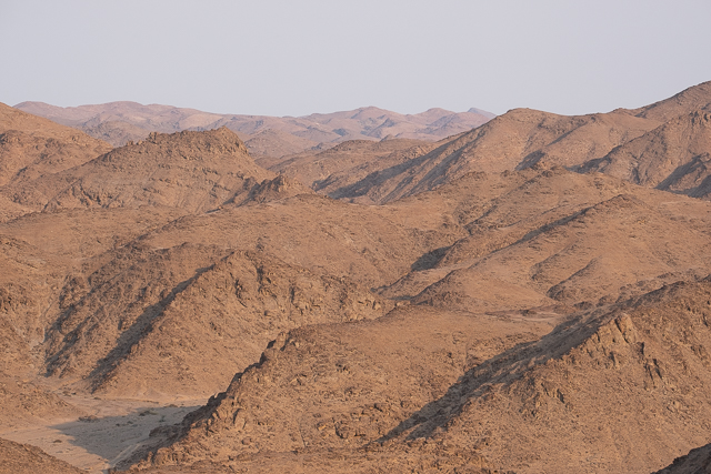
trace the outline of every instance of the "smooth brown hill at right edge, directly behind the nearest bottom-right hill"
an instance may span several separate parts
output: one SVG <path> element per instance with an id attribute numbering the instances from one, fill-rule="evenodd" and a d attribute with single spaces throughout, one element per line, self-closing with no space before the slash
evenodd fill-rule
<path id="1" fill-rule="evenodd" d="M 711 255 L 711 235 L 703 225 L 678 216 L 619 194 L 534 228 L 494 254 L 461 260 L 462 250 L 477 249 L 481 239 L 458 242 L 459 255 L 445 252 L 443 260 L 449 259 L 449 264 L 438 272 L 447 276 L 413 301 L 447 307 L 498 307 L 504 301 L 512 309 L 555 302 L 595 304 L 614 301 L 624 289 L 634 291 L 634 285 L 654 288 L 685 272 L 702 274 L 711 264 L 705 260 Z M 674 238 L 680 230 L 688 235 L 683 242 Z M 524 232 L 512 231 L 505 238 Z M 507 265 L 512 260 L 520 262 L 517 269 Z"/>

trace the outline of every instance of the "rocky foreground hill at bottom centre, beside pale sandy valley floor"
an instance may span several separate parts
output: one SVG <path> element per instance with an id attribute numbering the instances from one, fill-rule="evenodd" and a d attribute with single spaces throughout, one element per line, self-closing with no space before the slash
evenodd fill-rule
<path id="1" fill-rule="evenodd" d="M 550 327 L 491 322 L 412 307 L 378 321 L 282 334 L 227 392 L 181 426 L 156 432 L 149 458 L 158 465 L 228 463 L 259 452 L 353 450 L 382 441 L 477 361 Z"/>

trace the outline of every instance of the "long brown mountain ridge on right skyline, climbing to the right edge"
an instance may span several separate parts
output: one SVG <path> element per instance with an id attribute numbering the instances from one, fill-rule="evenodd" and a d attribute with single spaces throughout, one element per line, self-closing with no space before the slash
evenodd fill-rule
<path id="1" fill-rule="evenodd" d="M 647 168 L 657 173 L 663 170 L 667 174 L 658 177 L 658 182 L 669 179 L 664 185 L 670 190 L 687 189 L 694 192 L 693 195 L 702 195 L 709 191 L 708 183 L 703 182 L 708 160 L 703 151 L 693 153 L 707 150 L 701 123 L 704 111 L 711 107 L 709 84 L 694 85 L 638 110 L 565 117 L 514 109 L 474 130 L 451 137 L 432 151 L 371 168 L 359 181 L 329 186 L 326 192 L 353 202 L 382 203 L 434 189 L 468 172 L 501 172 L 537 163 L 571 169 L 588 163 L 582 171 L 593 168 L 604 171 L 608 167 L 613 175 L 634 180 L 632 174 L 637 172 L 639 160 L 655 162 L 659 159 L 654 159 L 654 154 L 665 157 L 671 153 L 673 158 L 665 158 L 664 165 L 641 164 L 640 172 L 644 173 Z M 622 149 L 618 150 L 618 147 Z M 639 157 L 642 148 L 647 153 L 643 158 Z M 611 165 L 610 160 L 620 163 Z"/>

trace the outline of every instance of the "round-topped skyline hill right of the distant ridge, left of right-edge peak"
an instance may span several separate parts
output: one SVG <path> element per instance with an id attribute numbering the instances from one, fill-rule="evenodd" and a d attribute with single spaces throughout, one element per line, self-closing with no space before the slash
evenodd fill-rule
<path id="1" fill-rule="evenodd" d="M 453 137 L 427 154 L 378 170 L 331 194 L 383 203 L 474 171 L 502 172 L 537 163 L 572 167 L 602 158 L 657 125 L 655 121 L 622 112 L 564 117 L 517 109 Z"/>

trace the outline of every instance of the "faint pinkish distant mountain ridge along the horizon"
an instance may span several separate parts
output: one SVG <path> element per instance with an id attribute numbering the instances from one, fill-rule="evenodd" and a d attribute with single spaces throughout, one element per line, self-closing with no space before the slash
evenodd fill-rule
<path id="1" fill-rule="evenodd" d="M 237 132 L 259 154 L 283 155 L 347 140 L 382 140 L 403 138 L 435 141 L 479 127 L 495 115 L 471 108 L 465 112 L 429 109 L 415 114 L 401 114 L 377 107 L 364 107 L 333 113 L 304 117 L 240 115 L 203 112 L 171 105 L 142 105 L 137 102 L 109 102 L 93 105 L 56 107 L 43 102 L 14 105 L 34 115 L 73 127 L 114 147 L 142 140 L 149 132 L 172 133 L 183 130 L 211 130 L 220 127 Z M 271 133 L 269 133 L 271 131 Z M 273 131 L 284 133 L 273 137 Z M 264 135 L 264 133 L 267 133 Z M 264 141 L 276 141 L 274 150 Z"/>

